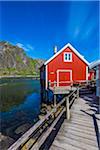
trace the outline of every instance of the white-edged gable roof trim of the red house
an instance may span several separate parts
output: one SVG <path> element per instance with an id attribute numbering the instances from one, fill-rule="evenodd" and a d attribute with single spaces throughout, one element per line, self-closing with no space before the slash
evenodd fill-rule
<path id="1" fill-rule="evenodd" d="M 44 65 L 47 65 L 51 60 L 53 60 L 57 55 L 59 55 L 63 50 L 69 47 L 81 60 L 83 60 L 87 65 L 89 62 L 70 44 L 66 44 L 61 50 L 59 50 L 55 55 L 53 55 L 49 60 L 47 60 Z"/>

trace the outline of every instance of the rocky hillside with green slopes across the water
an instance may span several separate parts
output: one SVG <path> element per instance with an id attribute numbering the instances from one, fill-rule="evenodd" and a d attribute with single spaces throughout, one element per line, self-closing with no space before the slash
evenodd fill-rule
<path id="1" fill-rule="evenodd" d="M 38 75 L 44 60 L 32 59 L 18 46 L 0 42 L 0 76 Z"/>

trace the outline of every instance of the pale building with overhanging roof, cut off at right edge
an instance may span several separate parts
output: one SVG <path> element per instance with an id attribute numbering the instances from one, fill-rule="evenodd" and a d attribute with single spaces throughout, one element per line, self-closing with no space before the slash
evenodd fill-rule
<path id="1" fill-rule="evenodd" d="M 100 97 L 100 60 L 92 62 L 89 67 L 96 69 L 96 95 Z"/>

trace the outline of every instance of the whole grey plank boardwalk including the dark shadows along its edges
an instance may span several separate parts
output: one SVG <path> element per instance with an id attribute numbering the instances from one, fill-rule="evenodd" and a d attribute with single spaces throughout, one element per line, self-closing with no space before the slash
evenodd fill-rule
<path id="1" fill-rule="evenodd" d="M 100 114 L 95 93 L 86 91 L 81 94 L 74 102 L 71 114 L 70 121 L 64 120 L 63 115 L 40 150 L 98 149 Z"/>

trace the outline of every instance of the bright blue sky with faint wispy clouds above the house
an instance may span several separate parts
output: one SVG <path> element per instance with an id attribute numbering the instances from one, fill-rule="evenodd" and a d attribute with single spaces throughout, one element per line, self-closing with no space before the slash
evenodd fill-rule
<path id="1" fill-rule="evenodd" d="M 89 62 L 100 58 L 99 2 L 0 3 L 0 40 L 23 47 L 30 57 L 48 59 L 54 45 L 60 50 L 71 43 Z"/>

